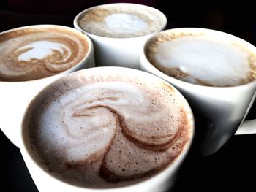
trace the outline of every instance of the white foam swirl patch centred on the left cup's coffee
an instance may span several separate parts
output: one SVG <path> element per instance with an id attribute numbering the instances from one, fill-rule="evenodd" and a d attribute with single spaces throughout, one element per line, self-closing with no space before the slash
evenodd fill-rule
<path id="1" fill-rule="evenodd" d="M 25 50 L 25 52 L 18 56 L 19 61 L 31 61 L 31 59 L 34 58 L 43 59 L 48 55 L 53 55 L 53 50 L 59 51 L 61 55 L 64 54 L 64 50 L 67 50 L 67 58 L 69 58 L 69 55 L 71 54 L 71 50 L 67 45 L 49 41 L 31 42 L 29 45 L 20 47 L 18 51 L 20 50 Z"/>

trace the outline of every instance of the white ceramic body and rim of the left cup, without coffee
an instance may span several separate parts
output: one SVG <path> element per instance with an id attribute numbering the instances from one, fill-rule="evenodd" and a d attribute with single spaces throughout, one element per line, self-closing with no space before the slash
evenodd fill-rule
<path id="1" fill-rule="evenodd" d="M 17 31 L 24 28 L 64 28 L 65 30 L 71 31 L 72 33 L 77 33 L 81 36 L 81 32 L 66 26 L 56 26 L 56 25 L 36 25 L 36 26 L 24 26 L 20 28 L 13 28 L 8 31 L 0 33 L 7 34 L 10 31 Z M 31 99 L 42 89 L 45 85 L 48 85 L 53 80 L 58 79 L 64 74 L 70 72 L 75 72 L 79 69 L 85 69 L 94 66 L 94 47 L 91 39 L 86 35 L 82 34 L 86 42 L 88 42 L 89 49 L 86 55 L 84 55 L 83 60 L 81 60 L 75 66 L 67 69 L 64 72 L 55 74 L 50 77 L 44 77 L 38 80 L 28 80 L 19 82 L 5 82 L 0 81 L 0 128 L 4 134 L 10 139 L 10 141 L 16 145 L 20 146 L 20 126 L 24 110 L 26 110 L 27 105 Z"/>

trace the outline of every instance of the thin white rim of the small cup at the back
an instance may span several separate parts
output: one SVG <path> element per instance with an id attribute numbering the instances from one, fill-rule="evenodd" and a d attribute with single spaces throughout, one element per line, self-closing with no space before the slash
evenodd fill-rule
<path id="1" fill-rule="evenodd" d="M 160 15 L 160 17 L 162 17 L 162 19 L 164 20 L 164 25 L 161 28 L 159 28 L 157 31 L 152 32 L 151 34 L 146 34 L 146 35 L 142 35 L 142 36 L 138 36 L 138 37 L 105 37 L 105 36 L 100 36 L 100 35 L 97 35 L 97 34 L 91 34 L 89 31 L 86 31 L 83 28 L 81 28 L 80 25 L 78 24 L 79 18 L 85 12 L 88 12 L 90 9 L 94 9 L 94 8 L 97 8 L 97 7 L 105 7 L 105 6 L 113 6 L 114 7 L 116 5 L 121 5 L 121 6 L 124 6 L 124 7 L 127 7 L 127 6 L 145 7 L 146 9 L 151 9 L 154 12 L 157 12 L 157 14 Z M 78 15 L 75 16 L 75 19 L 73 20 L 73 25 L 79 31 L 83 32 L 83 34 L 89 34 L 92 37 L 98 37 L 98 38 L 102 38 L 102 39 L 138 39 L 138 38 L 141 38 L 141 37 L 150 37 L 152 34 L 156 34 L 157 32 L 162 31 L 167 26 L 167 18 L 165 16 L 165 14 L 163 12 L 161 12 L 159 9 L 156 9 L 154 7 L 150 7 L 148 5 L 135 4 L 135 3 L 110 3 L 110 4 L 99 4 L 97 6 L 89 7 L 87 9 L 84 9 L 83 11 L 79 12 Z"/>

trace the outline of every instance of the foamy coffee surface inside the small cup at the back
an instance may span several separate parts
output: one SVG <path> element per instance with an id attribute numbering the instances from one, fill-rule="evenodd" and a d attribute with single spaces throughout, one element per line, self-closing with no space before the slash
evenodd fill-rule
<path id="1" fill-rule="evenodd" d="M 83 12 L 78 26 L 102 37 L 127 38 L 160 31 L 165 21 L 165 16 L 157 9 L 138 4 L 108 4 Z"/>

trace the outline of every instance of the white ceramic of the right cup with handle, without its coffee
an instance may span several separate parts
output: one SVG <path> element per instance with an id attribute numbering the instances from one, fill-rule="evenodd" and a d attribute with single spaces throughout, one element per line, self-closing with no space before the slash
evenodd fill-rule
<path id="1" fill-rule="evenodd" d="M 204 28 L 173 28 L 159 34 L 207 34 L 211 39 L 238 42 L 238 45 L 256 54 L 255 46 L 233 35 Z M 152 37 L 153 38 L 153 37 Z M 148 39 L 148 42 L 150 39 Z M 178 88 L 195 113 L 196 135 L 200 135 L 201 155 L 211 155 L 221 148 L 234 134 L 256 133 L 255 120 L 245 120 L 255 100 L 256 81 L 229 87 L 195 85 L 170 77 L 153 66 L 146 58 L 146 46 L 140 57 L 140 69 L 170 82 Z M 183 53 L 181 57 L 186 57 Z M 200 67 L 198 66 L 198 69 Z M 209 69 L 210 70 L 210 69 Z M 198 117 L 198 119 L 197 119 Z M 197 121 L 201 121 L 197 124 Z"/>

